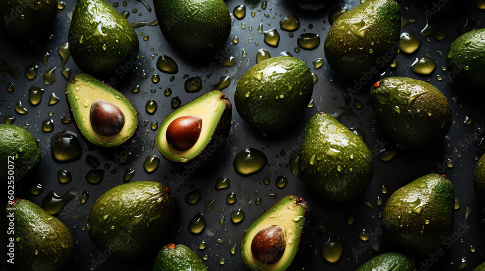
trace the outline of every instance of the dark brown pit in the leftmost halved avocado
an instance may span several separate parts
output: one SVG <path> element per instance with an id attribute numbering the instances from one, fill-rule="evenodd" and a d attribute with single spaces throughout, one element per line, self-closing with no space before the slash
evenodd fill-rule
<path id="1" fill-rule="evenodd" d="M 125 126 L 125 114 L 110 102 L 97 100 L 91 105 L 91 125 L 99 135 L 116 135 Z"/>

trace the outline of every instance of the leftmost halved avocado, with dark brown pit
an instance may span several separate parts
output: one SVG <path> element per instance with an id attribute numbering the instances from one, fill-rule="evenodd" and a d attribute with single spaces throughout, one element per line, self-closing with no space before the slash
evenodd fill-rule
<path id="1" fill-rule="evenodd" d="M 74 75 L 65 95 L 78 129 L 94 145 L 115 147 L 135 135 L 135 107 L 104 82 L 90 75 Z"/>

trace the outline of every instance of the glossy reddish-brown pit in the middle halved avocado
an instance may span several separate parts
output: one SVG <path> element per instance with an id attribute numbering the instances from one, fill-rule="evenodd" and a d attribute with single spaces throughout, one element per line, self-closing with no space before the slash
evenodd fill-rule
<path id="1" fill-rule="evenodd" d="M 188 115 L 172 120 L 167 127 L 167 142 L 177 151 L 187 151 L 199 139 L 202 119 Z"/>

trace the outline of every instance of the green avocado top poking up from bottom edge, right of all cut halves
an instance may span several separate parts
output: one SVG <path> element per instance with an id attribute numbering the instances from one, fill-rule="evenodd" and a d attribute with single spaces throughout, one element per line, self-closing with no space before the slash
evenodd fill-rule
<path id="1" fill-rule="evenodd" d="M 414 271 L 415 264 L 408 257 L 397 252 L 388 252 L 375 256 L 357 268 L 356 271 Z"/>

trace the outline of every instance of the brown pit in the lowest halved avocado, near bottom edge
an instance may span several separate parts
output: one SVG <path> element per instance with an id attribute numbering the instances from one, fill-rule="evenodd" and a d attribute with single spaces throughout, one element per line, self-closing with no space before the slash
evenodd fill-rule
<path id="1" fill-rule="evenodd" d="M 261 263 L 277 262 L 286 248 L 286 231 L 282 226 L 267 226 L 261 229 L 251 242 L 251 252 Z"/>

